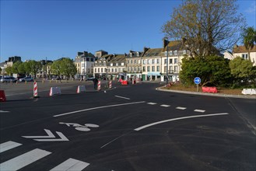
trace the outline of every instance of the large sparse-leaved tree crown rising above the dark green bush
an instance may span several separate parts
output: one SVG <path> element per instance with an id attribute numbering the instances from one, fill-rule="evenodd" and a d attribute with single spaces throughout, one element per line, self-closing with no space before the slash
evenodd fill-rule
<path id="1" fill-rule="evenodd" d="M 240 40 L 245 19 L 237 8 L 236 0 L 186 0 L 161 30 L 167 37 L 182 40 L 194 56 L 217 54 Z"/>

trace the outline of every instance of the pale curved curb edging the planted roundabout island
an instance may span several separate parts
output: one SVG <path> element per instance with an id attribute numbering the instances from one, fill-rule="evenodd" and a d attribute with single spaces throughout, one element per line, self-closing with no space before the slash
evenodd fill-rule
<path id="1" fill-rule="evenodd" d="M 240 98 L 240 99 L 256 99 L 255 95 L 230 95 L 230 94 L 216 94 L 216 93 L 207 93 L 207 92 L 187 92 L 187 91 L 181 91 L 181 90 L 174 90 L 174 89 L 162 89 L 165 86 L 161 86 L 156 88 L 157 91 L 162 92 L 177 92 L 177 93 L 183 93 L 183 94 L 194 94 L 194 95 L 200 95 L 200 96 L 219 96 L 219 97 L 232 97 L 232 98 Z"/>

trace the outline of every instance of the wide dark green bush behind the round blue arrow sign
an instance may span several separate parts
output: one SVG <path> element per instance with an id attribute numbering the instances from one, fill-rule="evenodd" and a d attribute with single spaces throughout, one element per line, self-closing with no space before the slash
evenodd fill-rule
<path id="1" fill-rule="evenodd" d="M 202 84 L 213 82 L 216 86 L 228 86 L 230 82 L 229 61 L 216 55 L 184 58 L 181 68 L 181 82 L 188 85 L 195 84 L 195 77 L 200 77 Z"/>

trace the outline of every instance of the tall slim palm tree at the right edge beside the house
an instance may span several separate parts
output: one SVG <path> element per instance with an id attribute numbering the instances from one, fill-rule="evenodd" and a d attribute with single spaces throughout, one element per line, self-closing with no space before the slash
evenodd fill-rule
<path id="1" fill-rule="evenodd" d="M 254 44 L 256 44 L 256 30 L 254 30 L 254 27 L 247 27 L 246 29 L 244 29 L 244 33 L 242 36 L 244 46 L 248 51 L 248 58 L 249 60 L 251 60 L 250 50 L 254 47 Z"/>

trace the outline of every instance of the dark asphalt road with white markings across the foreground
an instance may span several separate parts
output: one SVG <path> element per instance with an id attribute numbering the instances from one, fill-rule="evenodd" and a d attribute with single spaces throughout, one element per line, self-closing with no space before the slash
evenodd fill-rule
<path id="1" fill-rule="evenodd" d="M 255 99 L 55 84 L 2 85 L 0 170 L 256 169 Z"/>

